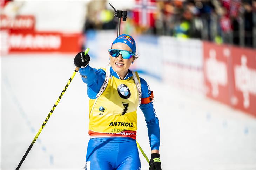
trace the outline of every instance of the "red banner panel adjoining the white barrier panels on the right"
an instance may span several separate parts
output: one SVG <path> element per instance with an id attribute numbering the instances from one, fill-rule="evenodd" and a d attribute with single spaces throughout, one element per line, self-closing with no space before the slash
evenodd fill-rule
<path id="1" fill-rule="evenodd" d="M 228 46 L 203 42 L 206 95 L 227 105 L 230 104 L 230 76 L 228 71 L 230 54 Z"/>

